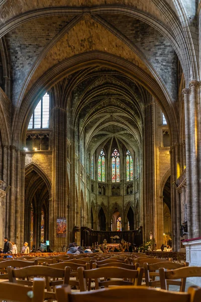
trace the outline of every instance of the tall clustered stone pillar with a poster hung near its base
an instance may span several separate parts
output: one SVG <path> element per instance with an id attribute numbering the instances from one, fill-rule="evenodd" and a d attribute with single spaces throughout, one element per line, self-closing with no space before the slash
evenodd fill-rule
<path id="1" fill-rule="evenodd" d="M 52 109 L 52 200 L 50 203 L 50 240 L 51 247 L 60 250 L 67 244 L 67 238 L 57 237 L 57 217 L 67 218 L 67 112 L 63 108 Z M 68 231 L 68 230 L 67 230 Z"/>

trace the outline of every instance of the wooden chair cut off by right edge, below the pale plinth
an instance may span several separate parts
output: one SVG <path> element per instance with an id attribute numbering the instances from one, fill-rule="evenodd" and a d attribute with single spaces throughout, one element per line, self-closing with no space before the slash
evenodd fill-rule
<path id="1" fill-rule="evenodd" d="M 181 279 L 180 291 L 185 291 L 186 278 L 201 277 L 201 267 L 188 266 L 170 271 L 165 271 L 164 268 L 159 268 L 159 276 L 161 289 L 167 289 L 167 280 Z"/>

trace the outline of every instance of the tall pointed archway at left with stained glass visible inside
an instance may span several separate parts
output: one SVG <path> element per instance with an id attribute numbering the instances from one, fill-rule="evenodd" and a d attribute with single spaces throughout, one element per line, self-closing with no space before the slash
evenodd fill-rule
<path id="1" fill-rule="evenodd" d="M 25 241 L 30 250 L 48 240 L 49 199 L 46 181 L 29 167 L 25 176 Z"/>

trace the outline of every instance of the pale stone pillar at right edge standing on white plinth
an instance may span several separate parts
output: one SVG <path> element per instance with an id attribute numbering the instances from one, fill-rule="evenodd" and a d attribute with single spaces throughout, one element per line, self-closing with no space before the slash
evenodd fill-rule
<path id="1" fill-rule="evenodd" d="M 200 82 L 191 81 L 182 91 L 185 110 L 186 193 L 188 238 L 201 234 L 200 195 Z"/>

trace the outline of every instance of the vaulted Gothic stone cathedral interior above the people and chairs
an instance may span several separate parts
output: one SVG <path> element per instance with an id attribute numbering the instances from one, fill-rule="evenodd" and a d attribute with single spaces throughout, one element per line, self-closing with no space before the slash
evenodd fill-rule
<path id="1" fill-rule="evenodd" d="M 2 244 L 201 236 L 200 8 L 0 1 Z"/>

